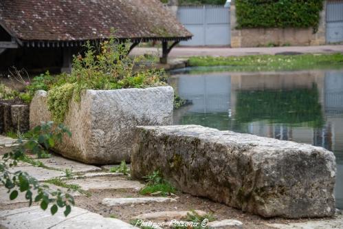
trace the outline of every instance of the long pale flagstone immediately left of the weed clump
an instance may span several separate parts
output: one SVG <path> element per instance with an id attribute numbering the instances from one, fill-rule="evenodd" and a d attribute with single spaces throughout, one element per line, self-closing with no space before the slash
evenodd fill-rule
<path id="1" fill-rule="evenodd" d="M 69 179 L 67 184 L 78 184 L 83 190 L 99 190 L 99 189 L 132 189 L 140 190 L 144 187 L 140 182 L 132 181 L 119 177 L 104 177 L 104 178 L 87 178 L 87 179 Z"/>

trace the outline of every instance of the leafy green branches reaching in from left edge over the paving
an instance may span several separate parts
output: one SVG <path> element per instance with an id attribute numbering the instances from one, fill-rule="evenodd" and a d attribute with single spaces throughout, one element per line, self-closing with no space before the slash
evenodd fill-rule
<path id="1" fill-rule="evenodd" d="M 19 160 L 27 157 L 30 152 L 36 155 L 47 151 L 54 146 L 56 141 L 62 141 L 63 135 L 71 135 L 66 127 L 59 124 L 54 127 L 53 122 L 42 123 L 30 132 L 30 138 L 26 141 L 21 138 L 16 142 L 16 146 L 10 153 L 5 153 L 0 162 L 0 182 L 8 189 L 10 199 L 16 199 L 19 192 L 25 192 L 25 198 L 32 202 L 40 203 L 43 210 L 46 210 L 49 204 L 52 204 L 50 211 L 54 215 L 58 208 L 65 208 L 64 215 L 71 212 L 71 206 L 74 205 L 74 197 L 69 193 L 63 193 L 60 190 L 51 190 L 49 186 L 40 184 L 37 179 L 23 171 L 10 171 L 10 167 L 16 166 Z M 36 195 L 34 196 L 34 191 Z"/>

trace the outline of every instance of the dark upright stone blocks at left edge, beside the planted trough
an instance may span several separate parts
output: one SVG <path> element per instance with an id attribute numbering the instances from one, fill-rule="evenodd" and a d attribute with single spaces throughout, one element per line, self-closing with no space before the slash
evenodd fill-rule
<path id="1" fill-rule="evenodd" d="M 28 105 L 17 104 L 12 100 L 0 101 L 0 133 L 28 131 L 30 129 L 29 109 Z"/>

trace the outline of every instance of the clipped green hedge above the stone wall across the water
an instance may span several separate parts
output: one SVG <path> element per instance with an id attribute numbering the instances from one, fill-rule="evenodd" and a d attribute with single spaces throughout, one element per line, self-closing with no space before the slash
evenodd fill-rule
<path id="1" fill-rule="evenodd" d="M 313 28 L 316 32 L 323 2 L 236 0 L 237 28 Z"/>

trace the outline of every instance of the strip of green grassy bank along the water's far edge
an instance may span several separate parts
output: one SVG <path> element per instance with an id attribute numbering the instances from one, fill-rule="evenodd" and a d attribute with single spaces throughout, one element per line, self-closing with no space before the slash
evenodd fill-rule
<path id="1" fill-rule="evenodd" d="M 192 56 L 189 65 L 198 67 L 225 66 L 230 71 L 274 71 L 326 69 L 343 67 L 343 54 Z"/>

